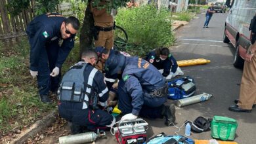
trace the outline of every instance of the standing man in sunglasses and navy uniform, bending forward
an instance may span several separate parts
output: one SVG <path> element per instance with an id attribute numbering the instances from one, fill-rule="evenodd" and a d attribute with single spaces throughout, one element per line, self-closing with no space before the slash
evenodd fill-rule
<path id="1" fill-rule="evenodd" d="M 26 29 L 30 42 L 30 74 L 37 77 L 39 98 L 51 103 L 49 92 L 56 92 L 60 68 L 74 47 L 79 20 L 48 13 L 36 16 Z M 62 42 L 62 43 L 61 43 Z"/>

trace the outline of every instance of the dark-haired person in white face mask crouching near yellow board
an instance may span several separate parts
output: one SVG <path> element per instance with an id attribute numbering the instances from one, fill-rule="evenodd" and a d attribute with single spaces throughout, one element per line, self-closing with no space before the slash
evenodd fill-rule
<path id="1" fill-rule="evenodd" d="M 152 63 L 157 69 L 163 69 L 163 77 L 170 75 L 170 78 L 177 71 L 178 64 L 168 48 L 156 48 L 147 56 L 146 61 Z"/>

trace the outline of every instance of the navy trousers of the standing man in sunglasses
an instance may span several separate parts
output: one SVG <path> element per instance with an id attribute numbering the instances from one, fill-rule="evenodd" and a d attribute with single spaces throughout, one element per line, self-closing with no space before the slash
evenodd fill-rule
<path id="1" fill-rule="evenodd" d="M 37 76 L 37 86 L 40 95 L 48 95 L 50 90 L 52 92 L 58 90 L 61 73 L 56 77 L 51 77 L 50 73 L 55 67 L 59 48 L 58 40 L 55 40 L 47 44 L 40 52 Z"/>

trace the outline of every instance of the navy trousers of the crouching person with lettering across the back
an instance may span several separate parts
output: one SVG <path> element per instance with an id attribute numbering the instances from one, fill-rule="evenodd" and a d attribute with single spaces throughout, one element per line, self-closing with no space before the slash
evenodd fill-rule
<path id="1" fill-rule="evenodd" d="M 131 105 L 131 96 L 125 89 L 125 82 L 120 80 L 117 88 L 118 94 L 118 109 L 122 111 L 122 115 L 127 113 L 131 113 L 133 110 L 133 105 Z M 154 97 L 150 96 L 148 92 L 143 92 L 144 96 L 144 105 L 142 105 L 142 109 L 140 109 L 141 117 L 148 118 L 161 118 L 161 109 L 163 107 L 163 103 L 167 100 L 167 97 Z"/>

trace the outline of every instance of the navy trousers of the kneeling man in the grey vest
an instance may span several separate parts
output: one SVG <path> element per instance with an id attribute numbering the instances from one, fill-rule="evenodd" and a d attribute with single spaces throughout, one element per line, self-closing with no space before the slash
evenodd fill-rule
<path id="1" fill-rule="evenodd" d="M 88 130 L 106 130 L 106 125 L 112 123 L 113 116 L 101 109 L 81 109 L 83 103 L 60 101 L 58 113 L 60 117 L 79 126 L 87 126 Z"/>

